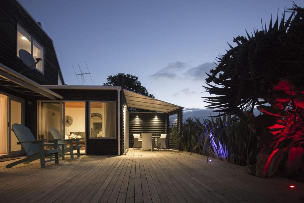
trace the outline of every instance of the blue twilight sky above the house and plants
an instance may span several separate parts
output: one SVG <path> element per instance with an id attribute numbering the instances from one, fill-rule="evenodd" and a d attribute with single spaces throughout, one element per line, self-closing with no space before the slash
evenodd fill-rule
<path id="1" fill-rule="evenodd" d="M 94 85 L 130 73 L 155 98 L 193 114 L 206 105 L 204 72 L 225 54 L 226 42 L 235 46 L 233 37 L 261 29 L 261 18 L 268 25 L 278 8 L 280 18 L 292 7 L 291 0 L 19 2 L 53 39 L 67 84 L 79 84 L 72 65 L 86 71 L 86 61 Z"/>

